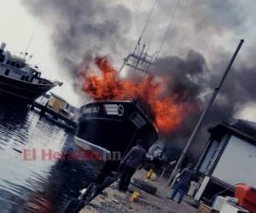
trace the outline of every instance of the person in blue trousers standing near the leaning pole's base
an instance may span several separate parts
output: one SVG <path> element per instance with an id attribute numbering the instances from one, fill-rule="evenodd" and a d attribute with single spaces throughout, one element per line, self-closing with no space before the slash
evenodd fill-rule
<path id="1" fill-rule="evenodd" d="M 189 185 L 190 182 L 192 181 L 193 177 L 195 176 L 195 171 L 192 170 L 192 164 L 189 164 L 181 173 L 176 177 L 177 184 L 174 187 L 172 194 L 171 194 L 171 199 L 175 199 L 177 193 L 179 194 L 179 198 L 177 200 L 177 203 L 180 204 L 183 201 L 184 195 L 188 192 L 189 190 Z"/>

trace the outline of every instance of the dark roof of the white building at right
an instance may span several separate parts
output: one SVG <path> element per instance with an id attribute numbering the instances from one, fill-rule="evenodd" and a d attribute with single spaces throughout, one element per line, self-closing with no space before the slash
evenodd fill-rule
<path id="1" fill-rule="evenodd" d="M 256 123 L 247 120 L 230 118 L 209 129 L 209 132 L 218 140 L 223 135 L 232 133 L 256 143 Z"/>

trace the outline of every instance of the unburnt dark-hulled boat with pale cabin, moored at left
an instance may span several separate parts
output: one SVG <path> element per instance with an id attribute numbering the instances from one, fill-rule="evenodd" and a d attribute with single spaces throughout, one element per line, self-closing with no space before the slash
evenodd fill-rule
<path id="1" fill-rule="evenodd" d="M 0 94 L 8 100 L 31 103 L 45 94 L 57 84 L 41 78 L 38 66 L 32 67 L 26 63 L 26 58 L 11 55 L 4 50 L 6 44 L 0 47 Z M 26 54 L 27 55 L 27 54 Z"/>

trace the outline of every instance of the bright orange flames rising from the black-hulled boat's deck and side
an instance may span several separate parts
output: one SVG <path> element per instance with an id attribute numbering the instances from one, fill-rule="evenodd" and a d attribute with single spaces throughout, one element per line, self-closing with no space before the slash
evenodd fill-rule
<path id="1" fill-rule="evenodd" d="M 189 112 L 189 105 L 181 100 L 180 95 L 163 96 L 166 87 L 165 79 L 150 76 L 141 81 L 120 79 L 118 72 L 111 66 L 106 57 L 97 57 L 93 60 L 101 72 L 91 72 L 88 64 L 82 66 L 79 77 L 83 80 L 83 91 L 96 101 L 103 100 L 132 100 L 137 99 L 149 106 L 154 115 L 154 123 L 164 134 L 176 131 L 183 123 Z"/>

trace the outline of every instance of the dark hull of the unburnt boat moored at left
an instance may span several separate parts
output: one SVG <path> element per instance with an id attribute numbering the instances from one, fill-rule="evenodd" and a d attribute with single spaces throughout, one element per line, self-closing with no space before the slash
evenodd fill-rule
<path id="1" fill-rule="evenodd" d="M 54 87 L 55 84 L 50 82 L 49 84 L 36 84 L 0 75 L 0 103 L 6 103 L 7 101 L 17 104 L 32 103 Z"/>

